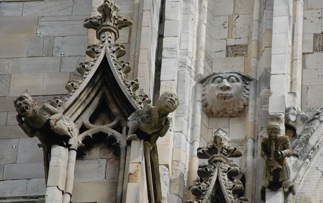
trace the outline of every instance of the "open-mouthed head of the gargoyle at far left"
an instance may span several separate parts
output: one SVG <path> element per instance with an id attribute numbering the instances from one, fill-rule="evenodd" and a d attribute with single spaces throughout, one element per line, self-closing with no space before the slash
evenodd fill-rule
<path id="1" fill-rule="evenodd" d="M 24 118 L 31 117 L 38 110 L 37 101 L 28 95 L 27 90 L 13 100 L 14 107 L 19 115 Z"/>

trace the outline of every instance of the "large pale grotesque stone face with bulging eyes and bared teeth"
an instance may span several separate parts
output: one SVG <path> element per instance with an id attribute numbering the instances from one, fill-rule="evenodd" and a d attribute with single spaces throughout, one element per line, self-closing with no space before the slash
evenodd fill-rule
<path id="1" fill-rule="evenodd" d="M 249 103 L 250 76 L 237 71 L 213 73 L 202 79 L 203 110 L 210 117 L 237 116 Z"/>

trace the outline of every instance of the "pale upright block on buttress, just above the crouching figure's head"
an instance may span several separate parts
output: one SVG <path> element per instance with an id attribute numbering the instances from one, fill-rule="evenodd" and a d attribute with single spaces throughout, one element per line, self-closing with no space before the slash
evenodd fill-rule
<path id="1" fill-rule="evenodd" d="M 175 58 L 163 58 L 161 60 L 160 81 L 175 80 L 177 72 L 177 60 Z"/>

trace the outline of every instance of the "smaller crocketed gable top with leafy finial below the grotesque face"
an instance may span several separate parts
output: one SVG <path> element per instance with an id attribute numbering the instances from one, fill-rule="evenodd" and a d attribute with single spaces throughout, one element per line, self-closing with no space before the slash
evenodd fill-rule
<path id="1" fill-rule="evenodd" d="M 247 198 L 235 197 L 241 194 L 244 187 L 241 181 L 234 177 L 239 174 L 239 167 L 230 163 L 229 157 L 240 157 L 242 152 L 228 145 L 227 132 L 219 128 L 213 136 L 212 145 L 197 149 L 197 157 L 209 159 L 208 164 L 198 167 L 199 182 L 192 187 L 191 192 L 197 197 L 192 203 L 201 202 L 245 202 Z"/>

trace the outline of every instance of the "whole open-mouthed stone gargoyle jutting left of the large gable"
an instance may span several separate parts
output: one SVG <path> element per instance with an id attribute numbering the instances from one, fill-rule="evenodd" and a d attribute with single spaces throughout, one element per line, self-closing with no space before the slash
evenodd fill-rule
<path id="1" fill-rule="evenodd" d="M 73 136 L 73 121 L 50 104 L 39 107 L 36 99 L 28 95 L 27 90 L 13 100 L 17 111 L 18 126 L 29 137 L 38 137 L 42 144 L 66 146 Z M 59 138 L 57 137 L 59 136 Z M 45 143 L 44 143 L 45 142 Z"/>

